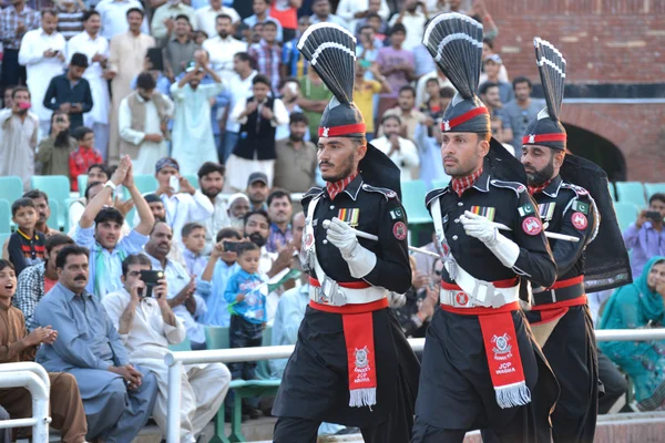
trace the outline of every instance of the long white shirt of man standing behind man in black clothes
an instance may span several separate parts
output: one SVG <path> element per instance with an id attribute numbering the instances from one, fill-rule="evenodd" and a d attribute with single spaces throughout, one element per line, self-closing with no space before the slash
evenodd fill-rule
<path id="1" fill-rule="evenodd" d="M 88 56 L 88 63 L 90 65 L 83 72 L 83 79 L 90 83 L 90 91 L 92 93 L 92 110 L 83 114 L 84 124 L 90 123 L 85 120 L 90 119 L 93 123 L 109 123 L 109 106 L 111 104 L 111 96 L 109 94 L 109 82 L 102 78 L 104 69 L 100 62 L 92 62 L 92 58 L 95 54 L 102 54 L 109 58 L 109 40 L 98 34 L 92 38 L 86 31 L 83 31 L 70 39 L 66 42 L 66 61 L 68 63 L 72 60 L 72 55 L 76 52 L 85 54 Z"/>

